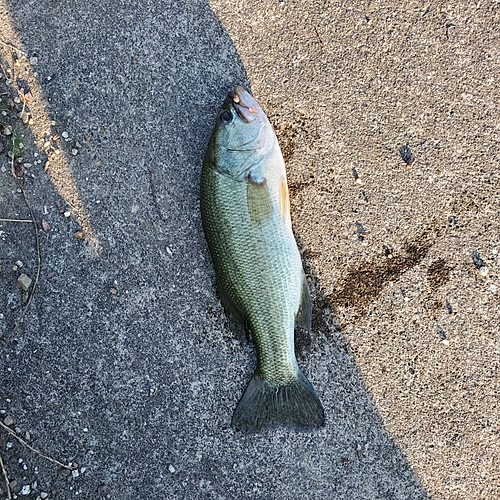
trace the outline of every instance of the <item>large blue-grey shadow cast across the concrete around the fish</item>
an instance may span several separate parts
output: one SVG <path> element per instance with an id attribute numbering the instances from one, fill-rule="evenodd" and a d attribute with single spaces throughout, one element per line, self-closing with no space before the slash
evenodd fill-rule
<path id="1" fill-rule="evenodd" d="M 70 201 L 50 171 L 34 168 L 25 189 L 50 229 L 25 327 L 2 346 L 0 409 L 35 447 L 77 462 L 80 475 L 61 475 L 0 436 L 14 490 L 36 480 L 36 492 L 61 500 L 427 498 L 318 283 L 317 335 L 304 338 L 301 363 L 327 427 L 255 436 L 230 428 L 254 353 L 234 340 L 215 297 L 198 183 L 224 95 L 249 82 L 209 5 L 11 1 L 9 10 L 23 50 L 37 58 L 31 70 L 51 133 L 67 132 L 57 154 L 102 248 L 75 237 L 81 221 L 57 206 Z M 32 244 L 16 231 L 6 267 Z M 34 269 L 34 257 L 25 260 Z M 16 279 L 2 275 L 11 295 Z M 12 318 L 19 312 L 15 302 Z"/>

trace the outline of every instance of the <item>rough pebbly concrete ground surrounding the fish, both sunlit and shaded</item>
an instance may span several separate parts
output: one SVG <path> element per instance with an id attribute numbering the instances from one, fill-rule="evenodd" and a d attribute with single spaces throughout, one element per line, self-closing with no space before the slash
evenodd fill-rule
<path id="1" fill-rule="evenodd" d="M 11 96 L 19 79 L 35 95 L 24 188 L 42 255 L 12 335 L 36 246 L 32 225 L 1 223 L 0 410 L 85 468 L 63 476 L 0 431 L 14 492 L 500 497 L 498 2 L 0 10 L 1 41 L 27 52 L 15 63 L 0 46 Z M 255 355 L 217 300 L 198 184 L 235 83 L 268 112 L 288 166 L 314 299 L 299 363 L 327 413 L 316 433 L 230 427 Z M 29 218 L 4 153 L 0 218 Z"/>

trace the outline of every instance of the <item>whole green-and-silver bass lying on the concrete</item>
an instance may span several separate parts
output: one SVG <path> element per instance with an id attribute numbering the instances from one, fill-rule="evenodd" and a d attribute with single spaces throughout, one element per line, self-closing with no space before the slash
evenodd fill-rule
<path id="1" fill-rule="evenodd" d="M 251 331 L 257 351 L 233 428 L 324 426 L 321 401 L 295 357 L 294 329 L 310 330 L 312 311 L 285 162 L 266 114 L 241 86 L 217 114 L 203 160 L 200 209 L 219 298 Z"/>

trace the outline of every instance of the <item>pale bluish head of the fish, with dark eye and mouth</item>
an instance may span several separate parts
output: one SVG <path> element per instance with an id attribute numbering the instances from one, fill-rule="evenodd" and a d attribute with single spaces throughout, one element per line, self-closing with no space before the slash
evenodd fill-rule
<path id="1" fill-rule="evenodd" d="M 210 140 L 216 168 L 238 180 L 245 180 L 277 143 L 276 134 L 257 101 L 243 87 L 229 92 L 217 115 Z"/>

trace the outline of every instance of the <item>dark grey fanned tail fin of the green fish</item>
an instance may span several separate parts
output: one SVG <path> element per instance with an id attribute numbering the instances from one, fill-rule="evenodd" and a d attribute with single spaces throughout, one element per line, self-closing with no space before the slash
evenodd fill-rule
<path id="1" fill-rule="evenodd" d="M 234 410 L 232 425 L 241 431 L 289 425 L 299 429 L 323 427 L 325 412 L 313 386 L 299 370 L 287 385 L 272 385 L 255 374 Z"/>

